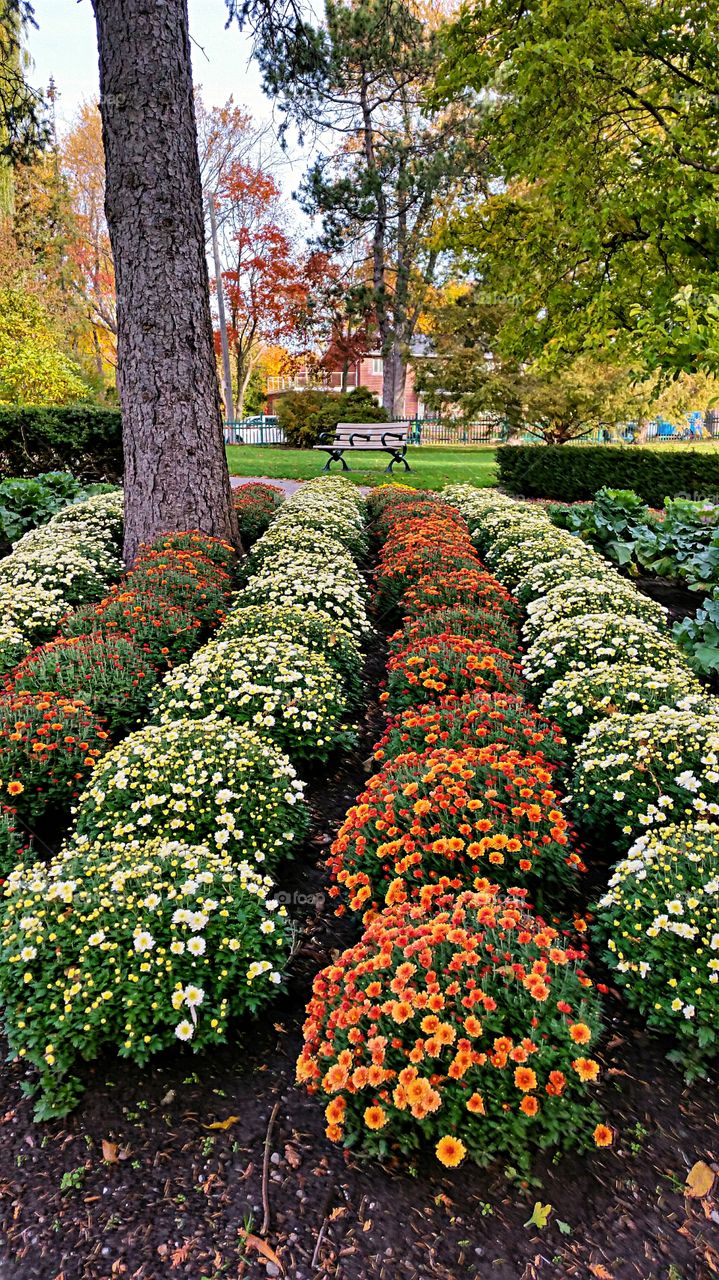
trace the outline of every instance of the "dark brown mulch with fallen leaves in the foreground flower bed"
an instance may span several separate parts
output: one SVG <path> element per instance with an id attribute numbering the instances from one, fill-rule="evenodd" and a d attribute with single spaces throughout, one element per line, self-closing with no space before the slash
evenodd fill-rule
<path id="1" fill-rule="evenodd" d="M 375 689 L 383 669 L 377 650 Z M 0 1068 L 0 1280 L 719 1275 L 716 1184 L 686 1194 L 696 1161 L 719 1169 L 716 1082 L 687 1088 L 618 997 L 604 1041 L 612 1149 L 539 1160 L 522 1181 L 500 1166 L 381 1167 L 325 1138 L 294 1061 L 312 978 L 356 937 L 324 900 L 322 861 L 371 772 L 379 726 L 374 701 L 358 748 L 311 782 L 312 833 L 280 886 L 303 943 L 258 1025 L 211 1057 L 178 1047 L 139 1069 L 107 1056 L 87 1068 L 78 1108 L 43 1125 L 22 1094 L 22 1064 Z M 530 1222 L 536 1202 L 551 1206 L 542 1229 Z"/>

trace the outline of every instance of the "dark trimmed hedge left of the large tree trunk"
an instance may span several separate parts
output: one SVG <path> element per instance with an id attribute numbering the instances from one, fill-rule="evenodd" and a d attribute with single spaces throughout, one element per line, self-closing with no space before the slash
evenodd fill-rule
<path id="1" fill-rule="evenodd" d="M 84 481 L 120 480 L 119 408 L 0 408 L 0 479 L 35 476 L 38 471 L 72 471 Z"/>

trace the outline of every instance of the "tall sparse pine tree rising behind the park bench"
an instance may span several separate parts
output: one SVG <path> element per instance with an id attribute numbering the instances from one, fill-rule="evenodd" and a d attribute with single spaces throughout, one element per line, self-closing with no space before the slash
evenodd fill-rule
<path id="1" fill-rule="evenodd" d="M 476 109 L 427 114 L 438 32 L 409 0 L 328 0 L 326 23 L 303 27 L 306 64 L 264 58 L 265 83 L 288 120 L 334 146 L 311 166 L 304 209 L 322 220 L 320 248 L 363 256 L 383 403 L 402 411 L 407 360 L 440 257 L 449 206 L 482 184 Z"/>

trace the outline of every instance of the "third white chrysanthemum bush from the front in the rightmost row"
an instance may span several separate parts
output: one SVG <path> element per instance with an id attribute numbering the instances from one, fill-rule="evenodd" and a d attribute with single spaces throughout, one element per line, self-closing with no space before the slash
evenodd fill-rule
<path id="1" fill-rule="evenodd" d="M 555 680 L 540 701 L 540 709 L 572 740 L 609 716 L 640 716 L 660 707 L 702 713 L 710 710 L 711 700 L 683 667 L 658 671 L 636 662 L 600 662 Z"/>

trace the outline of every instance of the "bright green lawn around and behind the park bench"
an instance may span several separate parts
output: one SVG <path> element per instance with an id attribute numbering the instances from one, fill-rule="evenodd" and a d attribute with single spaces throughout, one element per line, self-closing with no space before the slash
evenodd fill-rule
<path id="1" fill-rule="evenodd" d="M 441 489 L 445 484 L 496 484 L 495 449 L 491 445 L 464 448 L 462 445 L 425 444 L 409 449 L 407 461 L 411 472 L 395 466 L 394 479 L 417 489 Z M 333 475 L 345 475 L 354 484 L 376 485 L 385 476 L 388 456 L 383 453 L 348 457 L 351 472 L 333 463 Z M 320 475 L 325 454 L 312 449 L 285 449 L 281 445 L 230 444 L 228 445 L 230 475 L 267 476 L 271 480 L 310 480 Z"/>

